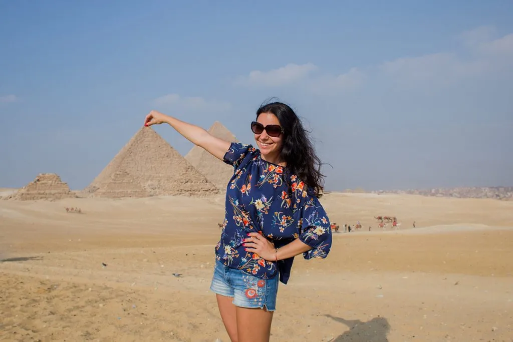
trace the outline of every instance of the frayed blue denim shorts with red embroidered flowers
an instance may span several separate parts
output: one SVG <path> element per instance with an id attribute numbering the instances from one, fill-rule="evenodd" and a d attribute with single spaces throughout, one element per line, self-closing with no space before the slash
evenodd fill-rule
<path id="1" fill-rule="evenodd" d="M 272 279 L 261 279 L 225 266 L 215 261 L 214 275 L 210 290 L 226 297 L 233 297 L 232 303 L 242 308 L 261 308 L 267 311 L 276 309 L 278 275 Z"/>

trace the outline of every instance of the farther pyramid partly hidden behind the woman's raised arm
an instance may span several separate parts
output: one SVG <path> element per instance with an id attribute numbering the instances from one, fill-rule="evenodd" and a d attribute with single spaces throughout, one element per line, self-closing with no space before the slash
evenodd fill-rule
<path id="1" fill-rule="evenodd" d="M 230 143 L 237 141 L 235 136 L 218 121 L 209 128 L 208 132 Z M 199 146 L 194 146 L 189 153 L 185 155 L 185 159 L 187 159 L 196 170 L 204 174 L 216 187 L 223 191 L 226 190 L 228 182 L 233 176 L 232 166 L 214 157 Z"/>

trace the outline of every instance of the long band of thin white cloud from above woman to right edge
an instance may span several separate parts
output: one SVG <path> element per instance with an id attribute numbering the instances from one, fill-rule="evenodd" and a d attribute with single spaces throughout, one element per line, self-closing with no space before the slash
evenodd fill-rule
<path id="1" fill-rule="evenodd" d="M 251 71 L 236 84 L 293 85 L 305 92 L 326 95 L 339 95 L 376 84 L 439 89 L 480 82 L 485 77 L 502 75 L 504 78 L 504 71 L 513 67 L 513 33 L 497 37 L 494 27 L 481 26 L 457 38 L 459 45 L 452 51 L 404 56 L 375 65 L 352 67 L 342 74 L 318 72 L 319 68 L 312 63 L 287 64 L 268 71 Z"/>

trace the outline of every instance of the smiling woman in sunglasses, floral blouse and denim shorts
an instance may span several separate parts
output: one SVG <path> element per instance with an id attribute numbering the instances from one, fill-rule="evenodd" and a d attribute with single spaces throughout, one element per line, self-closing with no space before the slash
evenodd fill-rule
<path id="1" fill-rule="evenodd" d="M 156 111 L 146 116 L 145 126 L 162 123 L 234 168 L 210 289 L 232 342 L 269 341 L 278 282 L 287 284 L 294 256 L 325 258 L 331 248 L 320 159 L 279 102 L 261 106 L 251 123 L 258 149 Z"/>

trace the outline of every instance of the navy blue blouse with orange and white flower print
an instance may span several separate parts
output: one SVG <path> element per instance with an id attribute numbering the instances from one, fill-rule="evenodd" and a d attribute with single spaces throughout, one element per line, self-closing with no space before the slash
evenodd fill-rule
<path id="1" fill-rule="evenodd" d="M 231 143 L 224 162 L 234 173 L 226 192 L 226 214 L 221 239 L 215 246 L 216 259 L 230 268 L 262 279 L 279 273 L 287 284 L 293 257 L 266 261 L 246 252 L 244 239 L 249 232 L 260 232 L 279 248 L 294 239 L 312 247 L 305 259 L 325 258 L 331 248 L 328 215 L 311 189 L 288 174 L 286 167 L 266 162 L 260 150 L 251 145 Z M 284 177 L 289 177 L 289 184 Z"/>

